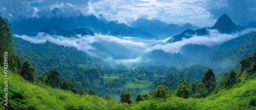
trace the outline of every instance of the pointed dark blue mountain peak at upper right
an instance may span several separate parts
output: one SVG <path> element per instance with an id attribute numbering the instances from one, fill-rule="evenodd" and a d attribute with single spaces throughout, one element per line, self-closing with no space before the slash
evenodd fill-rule
<path id="1" fill-rule="evenodd" d="M 221 33 L 233 33 L 240 31 L 244 29 L 241 26 L 237 26 L 236 24 L 233 23 L 233 21 L 230 19 L 230 17 L 226 14 L 223 14 L 215 23 L 212 29 L 218 29 Z"/>

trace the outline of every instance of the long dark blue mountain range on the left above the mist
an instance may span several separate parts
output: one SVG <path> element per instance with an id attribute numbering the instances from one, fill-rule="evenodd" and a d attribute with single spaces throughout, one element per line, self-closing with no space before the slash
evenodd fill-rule
<path id="1" fill-rule="evenodd" d="M 82 14 L 80 14 L 79 16 L 73 16 L 69 18 L 55 16 L 52 18 L 20 19 L 17 21 L 12 21 L 11 24 L 12 24 L 12 29 L 14 30 L 13 33 L 19 34 L 19 35 L 36 35 L 38 32 L 41 32 L 41 30 L 44 29 L 45 27 L 51 25 L 51 26 L 61 26 L 65 29 L 62 29 L 60 27 L 48 27 L 50 29 L 44 29 L 44 31 L 51 34 L 63 33 L 61 35 L 67 35 L 67 34 L 72 34 L 71 31 L 76 31 L 75 33 L 81 34 L 81 31 L 83 30 L 83 29 L 76 29 L 76 30 L 71 30 L 71 29 L 88 28 L 92 30 L 94 33 L 109 34 L 109 32 L 113 33 L 115 31 L 119 31 L 126 36 L 133 36 L 133 37 L 138 37 L 142 39 L 159 39 L 148 32 L 144 32 L 137 28 L 131 28 L 125 24 L 117 24 L 114 21 L 111 21 L 108 24 L 104 24 L 94 15 L 83 16 Z M 54 29 L 54 28 L 58 28 L 58 29 Z M 53 29 L 58 30 L 58 32 L 54 32 Z M 59 32 L 60 30 L 65 31 L 67 29 L 70 29 L 71 31 L 68 30 L 67 33 Z M 83 30 L 83 31 L 86 32 L 87 30 Z"/>

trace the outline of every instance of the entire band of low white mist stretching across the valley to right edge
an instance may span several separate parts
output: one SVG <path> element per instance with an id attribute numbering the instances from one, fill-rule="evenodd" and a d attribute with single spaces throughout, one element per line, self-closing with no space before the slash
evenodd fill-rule
<path id="1" fill-rule="evenodd" d="M 38 33 L 36 36 L 27 36 L 27 35 L 17 35 L 25 40 L 29 40 L 34 43 L 42 43 L 47 39 L 53 41 L 59 45 L 75 47 L 78 50 L 87 52 L 92 56 L 102 58 L 106 61 L 112 61 L 116 63 L 132 63 L 142 61 L 143 54 L 151 52 L 155 49 L 161 49 L 169 53 L 178 53 L 180 52 L 181 47 L 187 44 L 196 44 L 196 45 L 206 45 L 208 47 L 215 47 L 221 45 L 221 43 L 228 41 L 232 38 L 239 37 L 241 35 L 250 33 L 251 31 L 256 31 L 256 29 L 246 29 L 242 32 L 237 32 L 233 34 L 222 34 L 218 30 L 208 30 L 209 34 L 205 36 L 194 35 L 190 38 L 183 38 L 180 41 L 167 43 L 166 45 L 154 45 L 159 42 L 158 40 L 144 40 L 136 37 L 115 37 L 109 35 L 76 35 L 75 37 L 64 37 L 49 35 L 46 33 Z M 166 42 L 169 38 L 162 40 Z M 101 52 L 93 46 L 94 43 L 100 43 L 102 48 L 108 52 Z M 111 54 L 112 56 L 110 56 Z"/>

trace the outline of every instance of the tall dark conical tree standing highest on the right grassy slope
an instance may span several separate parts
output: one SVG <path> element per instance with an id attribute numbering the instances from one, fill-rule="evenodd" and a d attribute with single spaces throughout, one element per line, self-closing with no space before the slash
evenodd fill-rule
<path id="1" fill-rule="evenodd" d="M 212 91 L 214 91 L 215 89 L 215 75 L 214 75 L 214 72 L 209 68 L 205 74 L 204 74 L 204 77 L 203 77 L 203 84 L 204 84 L 204 88 L 205 90 L 208 92 L 207 94 L 210 94 Z"/>

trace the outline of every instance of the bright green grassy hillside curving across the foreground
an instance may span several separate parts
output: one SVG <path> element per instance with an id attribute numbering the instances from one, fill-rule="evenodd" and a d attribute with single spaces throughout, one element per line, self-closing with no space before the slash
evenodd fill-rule
<path id="1" fill-rule="evenodd" d="M 4 82 L 3 67 L 0 67 Z M 8 71 L 9 72 L 9 71 Z M 92 95 L 74 94 L 70 91 L 53 89 L 44 84 L 33 84 L 21 76 L 8 73 L 9 109 L 256 109 L 256 80 L 242 81 L 230 90 L 203 99 L 179 98 L 174 95 L 166 99 L 151 98 L 132 104 L 106 101 Z M 4 97 L 4 83 L 1 83 L 1 103 Z M 0 109 L 5 109 L 2 104 Z"/>

